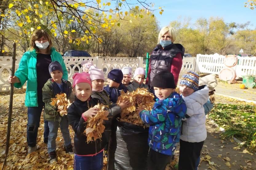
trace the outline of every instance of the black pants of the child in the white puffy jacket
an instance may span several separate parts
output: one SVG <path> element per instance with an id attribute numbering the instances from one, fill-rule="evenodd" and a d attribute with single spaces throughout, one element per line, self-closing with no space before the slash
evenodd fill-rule
<path id="1" fill-rule="evenodd" d="M 204 142 L 204 141 L 203 141 Z M 179 141 L 179 169 L 195 170 L 198 166 L 198 159 L 203 148 L 203 142 Z"/>

